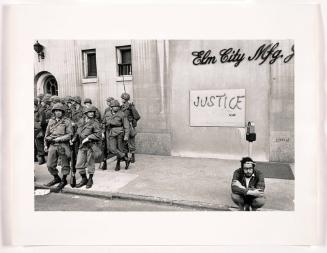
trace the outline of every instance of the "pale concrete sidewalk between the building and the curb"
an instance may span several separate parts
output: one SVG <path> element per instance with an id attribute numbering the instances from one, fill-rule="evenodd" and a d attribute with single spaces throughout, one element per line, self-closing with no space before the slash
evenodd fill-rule
<path id="1" fill-rule="evenodd" d="M 193 206 L 207 210 L 235 210 L 230 198 L 232 174 L 239 161 L 183 158 L 171 156 L 136 156 L 136 163 L 128 170 L 114 171 L 115 162 L 102 171 L 96 164 L 94 185 L 91 189 L 71 188 L 64 192 L 116 197 L 143 201 L 164 202 Z M 273 169 L 273 164 L 269 165 Z M 46 165 L 35 164 L 36 187 L 52 179 Z M 78 173 L 77 182 L 80 178 Z M 294 180 L 266 178 L 266 204 L 263 210 L 294 210 Z"/>

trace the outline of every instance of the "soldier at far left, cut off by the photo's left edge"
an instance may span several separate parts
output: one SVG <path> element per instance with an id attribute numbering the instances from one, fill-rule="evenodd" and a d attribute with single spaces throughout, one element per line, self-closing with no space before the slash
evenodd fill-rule
<path id="1" fill-rule="evenodd" d="M 44 112 L 39 110 L 38 100 L 34 99 L 34 157 L 39 165 L 45 163 L 43 145 L 45 124 Z"/>

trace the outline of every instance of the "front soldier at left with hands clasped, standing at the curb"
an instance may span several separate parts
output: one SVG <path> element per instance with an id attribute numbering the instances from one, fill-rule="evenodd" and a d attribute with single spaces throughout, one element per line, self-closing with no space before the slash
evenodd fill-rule
<path id="1" fill-rule="evenodd" d="M 53 106 L 54 118 L 49 120 L 44 138 L 44 149 L 48 152 L 47 166 L 50 174 L 54 177 L 46 186 L 59 185 L 53 192 L 61 191 L 67 184 L 67 175 L 70 172 L 69 141 L 73 135 L 72 125 L 69 119 L 64 117 L 65 107 L 61 103 Z M 57 162 L 61 158 L 62 179 L 58 176 Z"/>

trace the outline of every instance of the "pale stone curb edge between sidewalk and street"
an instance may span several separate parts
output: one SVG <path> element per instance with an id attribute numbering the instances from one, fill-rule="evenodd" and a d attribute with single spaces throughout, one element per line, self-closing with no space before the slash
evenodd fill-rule
<path id="1" fill-rule="evenodd" d="M 53 187 L 47 187 L 38 183 L 34 184 L 35 189 L 54 189 Z M 151 202 L 160 205 L 170 205 L 178 207 L 188 207 L 194 209 L 201 209 L 206 211 L 231 211 L 232 207 L 219 204 L 211 204 L 199 201 L 188 201 L 188 200 L 172 200 L 167 198 L 155 197 L 155 196 L 145 196 L 137 194 L 128 194 L 120 192 L 103 192 L 103 191 L 86 191 L 76 188 L 64 188 L 62 193 L 65 194 L 76 194 L 87 197 L 103 198 L 103 199 L 122 199 L 122 200 L 132 200 L 141 202 Z"/>

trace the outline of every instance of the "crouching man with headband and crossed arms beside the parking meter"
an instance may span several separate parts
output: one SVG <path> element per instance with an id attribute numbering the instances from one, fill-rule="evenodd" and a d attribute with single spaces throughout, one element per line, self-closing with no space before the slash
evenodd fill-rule
<path id="1" fill-rule="evenodd" d="M 265 204 L 265 180 L 250 157 L 243 157 L 241 168 L 234 171 L 232 200 L 242 211 L 256 211 Z"/>

